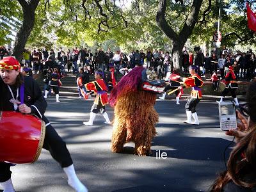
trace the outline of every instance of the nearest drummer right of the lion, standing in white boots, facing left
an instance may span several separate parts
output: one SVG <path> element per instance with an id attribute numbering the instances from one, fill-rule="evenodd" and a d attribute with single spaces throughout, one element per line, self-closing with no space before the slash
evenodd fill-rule
<path id="1" fill-rule="evenodd" d="M 196 113 L 196 105 L 202 99 L 202 92 L 200 87 L 203 86 L 204 81 L 202 81 L 201 77 L 196 74 L 196 65 L 189 66 L 189 74 L 191 74 L 191 76 L 188 78 L 180 77 L 180 79 L 182 79 L 182 81 L 184 82 L 184 86 L 180 86 L 180 89 L 182 87 L 192 88 L 191 98 L 188 100 L 185 106 L 187 120 L 184 121 L 184 123 L 199 125 L 198 116 Z M 191 122 L 191 116 L 193 116 L 195 120 L 194 122 Z"/>

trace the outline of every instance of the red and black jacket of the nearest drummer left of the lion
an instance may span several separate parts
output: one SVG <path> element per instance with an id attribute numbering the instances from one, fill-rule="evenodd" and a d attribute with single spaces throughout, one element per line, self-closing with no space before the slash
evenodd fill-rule
<path id="1" fill-rule="evenodd" d="M 96 79 L 95 81 L 84 84 L 84 86 L 86 90 L 97 93 L 96 99 L 94 100 L 95 104 L 99 105 L 99 102 L 102 104 L 102 106 L 106 106 L 106 104 L 108 104 L 108 88 L 103 79 Z"/>

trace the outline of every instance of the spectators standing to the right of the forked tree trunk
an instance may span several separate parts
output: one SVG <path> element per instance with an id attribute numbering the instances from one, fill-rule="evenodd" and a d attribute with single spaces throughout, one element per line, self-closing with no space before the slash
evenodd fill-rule
<path id="1" fill-rule="evenodd" d="M 219 58 L 216 52 L 211 52 L 211 56 L 208 53 L 204 56 L 202 50 L 199 50 L 195 51 L 194 56 L 192 52 L 188 54 L 188 51 L 184 50 L 182 54 L 184 74 L 188 74 L 188 66 L 193 64 L 198 66 L 198 74 L 204 75 L 205 79 L 210 79 L 214 72 L 223 79 L 230 66 L 234 68 L 237 79 L 251 81 L 255 77 L 256 59 L 251 49 L 248 52 L 224 50 Z"/>

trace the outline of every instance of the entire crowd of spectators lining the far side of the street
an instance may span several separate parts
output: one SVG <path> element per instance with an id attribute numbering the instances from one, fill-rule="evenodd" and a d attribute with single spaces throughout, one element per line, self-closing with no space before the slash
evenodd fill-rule
<path id="1" fill-rule="evenodd" d="M 10 55 L 12 55 L 10 48 L 0 47 L 1 58 Z M 33 69 L 34 74 L 46 71 L 47 68 L 58 68 L 65 76 L 66 73 L 79 73 L 78 68 L 84 66 L 88 68 L 90 74 L 93 74 L 93 71 L 98 68 L 109 71 L 109 68 L 114 67 L 116 72 L 119 72 L 121 68 L 134 68 L 135 65 L 140 64 L 155 70 L 157 77 L 163 79 L 168 71 L 173 70 L 171 56 L 170 52 L 162 49 L 154 49 L 154 51 L 147 49 L 145 52 L 142 49 L 132 50 L 125 54 L 120 50 L 113 52 L 110 48 L 107 51 L 100 48 L 92 52 L 87 48 L 75 47 L 65 52 L 60 47 L 57 53 L 53 49 L 47 51 L 45 48 L 34 48 L 33 51 L 25 49 L 22 54 L 22 65 Z M 250 81 L 255 77 L 256 58 L 252 50 L 231 52 L 224 49 L 220 56 L 217 56 L 214 51 L 209 55 L 204 54 L 201 49 L 192 52 L 184 47 L 181 60 L 184 76 L 189 76 L 190 65 L 196 65 L 197 73 L 205 79 L 211 79 L 214 72 L 223 79 L 228 72 L 228 67 L 232 65 L 237 79 Z"/>

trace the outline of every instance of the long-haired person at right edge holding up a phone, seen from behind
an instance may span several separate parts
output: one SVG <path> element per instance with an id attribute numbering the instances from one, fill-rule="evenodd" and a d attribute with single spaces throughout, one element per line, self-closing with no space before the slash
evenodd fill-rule
<path id="1" fill-rule="evenodd" d="M 256 81 L 248 86 L 247 104 L 239 106 L 237 129 L 227 135 L 236 137 L 236 147 L 228 159 L 227 170 L 220 174 L 211 191 L 256 191 Z"/>

